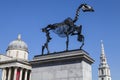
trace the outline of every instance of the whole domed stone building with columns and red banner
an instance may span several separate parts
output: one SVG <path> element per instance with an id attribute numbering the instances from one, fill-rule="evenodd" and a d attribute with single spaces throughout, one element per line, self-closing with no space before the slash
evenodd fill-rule
<path id="1" fill-rule="evenodd" d="M 0 69 L 2 69 L 2 80 L 31 79 L 28 47 L 20 34 L 16 40 L 10 42 L 6 55 L 0 55 Z"/>

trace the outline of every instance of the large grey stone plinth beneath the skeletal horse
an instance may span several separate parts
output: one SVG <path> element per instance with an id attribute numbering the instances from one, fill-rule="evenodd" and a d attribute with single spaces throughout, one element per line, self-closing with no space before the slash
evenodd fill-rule
<path id="1" fill-rule="evenodd" d="M 37 55 L 30 61 L 31 80 L 92 80 L 93 62 L 84 50 Z"/>

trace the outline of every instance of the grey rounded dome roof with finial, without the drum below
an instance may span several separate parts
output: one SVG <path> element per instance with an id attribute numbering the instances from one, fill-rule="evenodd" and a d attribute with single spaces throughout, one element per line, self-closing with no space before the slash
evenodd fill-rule
<path id="1" fill-rule="evenodd" d="M 7 48 L 7 51 L 8 50 L 22 50 L 28 52 L 28 47 L 27 44 L 21 40 L 21 35 L 19 34 L 17 40 L 10 42 Z"/>

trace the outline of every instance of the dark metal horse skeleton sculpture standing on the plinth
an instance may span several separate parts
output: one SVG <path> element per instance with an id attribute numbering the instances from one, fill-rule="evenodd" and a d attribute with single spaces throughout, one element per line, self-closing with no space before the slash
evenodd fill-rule
<path id="1" fill-rule="evenodd" d="M 76 16 L 74 19 L 71 19 L 68 17 L 61 23 L 55 23 L 55 24 L 49 24 L 47 27 L 42 28 L 42 32 L 46 33 L 46 43 L 42 46 L 42 55 L 44 53 L 44 49 L 47 49 L 47 52 L 49 54 L 49 49 L 48 49 L 48 43 L 52 39 L 50 37 L 50 30 L 52 30 L 54 33 L 58 34 L 60 37 L 67 37 L 66 40 L 66 51 L 68 51 L 68 44 L 69 44 L 69 35 L 77 35 L 77 40 L 79 42 L 82 42 L 82 45 L 80 46 L 80 49 L 84 45 L 84 36 L 81 34 L 82 26 L 77 26 L 75 25 L 75 22 L 78 20 L 79 17 L 79 12 L 80 9 L 82 9 L 83 12 L 88 12 L 91 11 L 93 12 L 93 8 L 87 4 L 81 4 L 77 11 L 76 11 Z"/>

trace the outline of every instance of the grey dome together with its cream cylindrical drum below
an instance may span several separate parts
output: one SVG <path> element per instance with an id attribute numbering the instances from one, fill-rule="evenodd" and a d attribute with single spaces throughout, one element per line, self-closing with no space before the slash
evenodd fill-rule
<path id="1" fill-rule="evenodd" d="M 27 44 L 21 40 L 20 34 L 16 40 L 10 42 L 6 51 L 7 56 L 28 60 L 28 47 Z"/>

